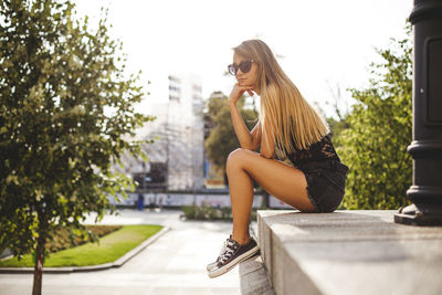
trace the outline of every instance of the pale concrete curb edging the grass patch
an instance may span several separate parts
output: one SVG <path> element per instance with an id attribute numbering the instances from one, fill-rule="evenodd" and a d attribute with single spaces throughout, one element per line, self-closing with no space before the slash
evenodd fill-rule
<path id="1" fill-rule="evenodd" d="M 119 257 L 118 260 L 109 263 L 104 263 L 99 265 L 90 265 L 90 266 L 67 266 L 67 267 L 43 267 L 43 273 L 74 273 L 74 272 L 96 272 L 96 271 L 103 271 L 103 270 L 108 270 L 112 267 L 119 267 L 126 262 L 128 262 L 131 257 L 134 257 L 136 254 L 141 252 L 145 247 L 154 243 L 158 238 L 160 238 L 162 234 L 165 234 L 167 231 L 169 231 L 170 228 L 165 226 L 162 228 L 159 232 L 144 241 L 141 244 L 138 246 L 134 247 L 129 252 L 127 252 L 125 255 Z M 33 273 L 34 268 L 33 267 L 0 267 L 0 273 L 9 273 L 9 274 L 15 274 L 15 273 Z"/>

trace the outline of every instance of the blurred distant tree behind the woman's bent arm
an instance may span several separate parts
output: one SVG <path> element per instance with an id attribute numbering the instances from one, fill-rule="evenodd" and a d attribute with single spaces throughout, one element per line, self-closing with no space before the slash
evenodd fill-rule
<path id="1" fill-rule="evenodd" d="M 241 116 L 249 129 L 256 124 L 257 113 L 254 109 L 244 108 L 244 98 L 238 103 Z M 204 141 L 210 161 L 220 171 L 225 171 L 225 162 L 229 154 L 240 147 L 233 129 L 228 97 L 221 92 L 214 92 L 208 101 L 207 125 L 211 129 Z"/>

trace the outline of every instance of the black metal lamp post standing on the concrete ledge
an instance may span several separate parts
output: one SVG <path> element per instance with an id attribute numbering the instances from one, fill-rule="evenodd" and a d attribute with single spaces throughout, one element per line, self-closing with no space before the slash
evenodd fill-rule
<path id="1" fill-rule="evenodd" d="M 414 0 L 413 183 L 394 222 L 442 225 L 442 0 Z"/>

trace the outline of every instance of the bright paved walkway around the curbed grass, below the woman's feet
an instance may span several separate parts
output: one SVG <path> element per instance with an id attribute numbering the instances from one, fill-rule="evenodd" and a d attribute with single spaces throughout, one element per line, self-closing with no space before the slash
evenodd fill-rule
<path id="1" fill-rule="evenodd" d="M 240 294 L 239 268 L 209 278 L 206 264 L 215 259 L 231 232 L 230 222 L 181 221 L 180 211 L 122 210 L 102 224 L 161 224 L 171 230 L 119 268 L 44 274 L 44 295 Z M 94 223 L 94 217 L 86 223 Z M 32 274 L 0 274 L 1 295 L 29 295 Z"/>

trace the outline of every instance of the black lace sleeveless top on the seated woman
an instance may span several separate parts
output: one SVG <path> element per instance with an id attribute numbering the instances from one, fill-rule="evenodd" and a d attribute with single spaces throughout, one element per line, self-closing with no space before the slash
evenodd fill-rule
<path id="1" fill-rule="evenodd" d="M 278 155 L 280 154 L 280 155 Z M 284 162 L 290 161 L 295 167 L 303 166 L 312 161 L 337 160 L 340 161 L 332 144 L 329 135 L 326 135 L 319 141 L 311 145 L 306 149 L 295 148 L 294 152 L 290 152 L 283 158 L 281 152 L 276 152 L 277 159 Z"/>

